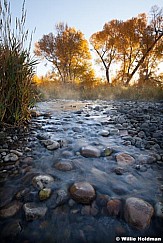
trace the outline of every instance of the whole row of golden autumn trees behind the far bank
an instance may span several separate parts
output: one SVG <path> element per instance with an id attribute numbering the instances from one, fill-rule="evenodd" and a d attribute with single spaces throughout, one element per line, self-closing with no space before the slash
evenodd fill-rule
<path id="1" fill-rule="evenodd" d="M 136 74 L 139 84 L 161 82 L 157 74 L 163 59 L 163 9 L 153 6 L 150 21 L 145 13 L 126 21 L 111 20 L 90 37 L 97 54 L 96 62 L 103 67 L 108 84 L 129 85 Z M 53 64 L 53 73 L 63 83 L 96 80 L 89 43 L 81 31 L 56 25 L 35 44 L 35 54 Z M 111 80 L 110 71 L 116 69 Z"/>

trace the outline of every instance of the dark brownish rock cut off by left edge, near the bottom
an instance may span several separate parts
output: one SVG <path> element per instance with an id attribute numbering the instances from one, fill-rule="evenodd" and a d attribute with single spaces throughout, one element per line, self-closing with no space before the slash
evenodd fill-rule
<path id="1" fill-rule="evenodd" d="M 22 203 L 18 201 L 13 201 L 6 205 L 4 208 L 0 209 L 0 217 L 8 218 L 14 216 L 22 207 Z"/>

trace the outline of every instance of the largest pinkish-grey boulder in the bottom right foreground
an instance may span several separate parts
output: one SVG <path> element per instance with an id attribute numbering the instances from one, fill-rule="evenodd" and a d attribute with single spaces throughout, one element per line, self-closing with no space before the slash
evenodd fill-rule
<path id="1" fill-rule="evenodd" d="M 137 229 L 145 229 L 149 226 L 154 209 L 148 202 L 130 197 L 126 200 L 124 217 L 127 223 Z"/>

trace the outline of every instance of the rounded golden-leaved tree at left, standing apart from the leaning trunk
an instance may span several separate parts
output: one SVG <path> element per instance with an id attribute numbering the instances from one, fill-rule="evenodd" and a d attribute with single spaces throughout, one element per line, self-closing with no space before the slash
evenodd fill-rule
<path id="1" fill-rule="evenodd" d="M 35 54 L 53 64 L 62 82 L 82 81 L 82 77 L 92 70 L 87 40 L 82 32 L 67 24 L 59 23 L 56 34 L 44 35 L 35 44 Z"/>

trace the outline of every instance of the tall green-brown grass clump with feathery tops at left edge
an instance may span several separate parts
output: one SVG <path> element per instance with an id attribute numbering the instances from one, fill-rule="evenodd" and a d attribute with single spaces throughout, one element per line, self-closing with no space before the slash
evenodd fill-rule
<path id="1" fill-rule="evenodd" d="M 35 60 L 30 57 L 28 30 L 25 30 L 25 1 L 22 16 L 13 26 L 10 2 L 0 0 L 0 122 L 20 125 L 30 117 L 34 102 L 32 77 Z M 32 34 L 31 34 L 32 36 Z"/>

